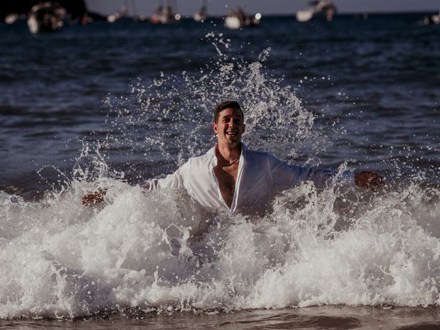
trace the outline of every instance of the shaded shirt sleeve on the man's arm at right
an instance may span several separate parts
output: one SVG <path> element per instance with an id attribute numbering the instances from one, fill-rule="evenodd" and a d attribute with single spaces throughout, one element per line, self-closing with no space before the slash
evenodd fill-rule
<path id="1" fill-rule="evenodd" d="M 314 181 L 318 188 L 327 188 L 338 175 L 335 170 L 290 165 L 273 156 L 270 157 L 269 163 L 272 180 L 274 184 L 280 186 L 298 186 L 302 181 Z M 344 172 L 337 177 L 336 182 L 342 186 L 354 186 L 354 174 Z"/>

